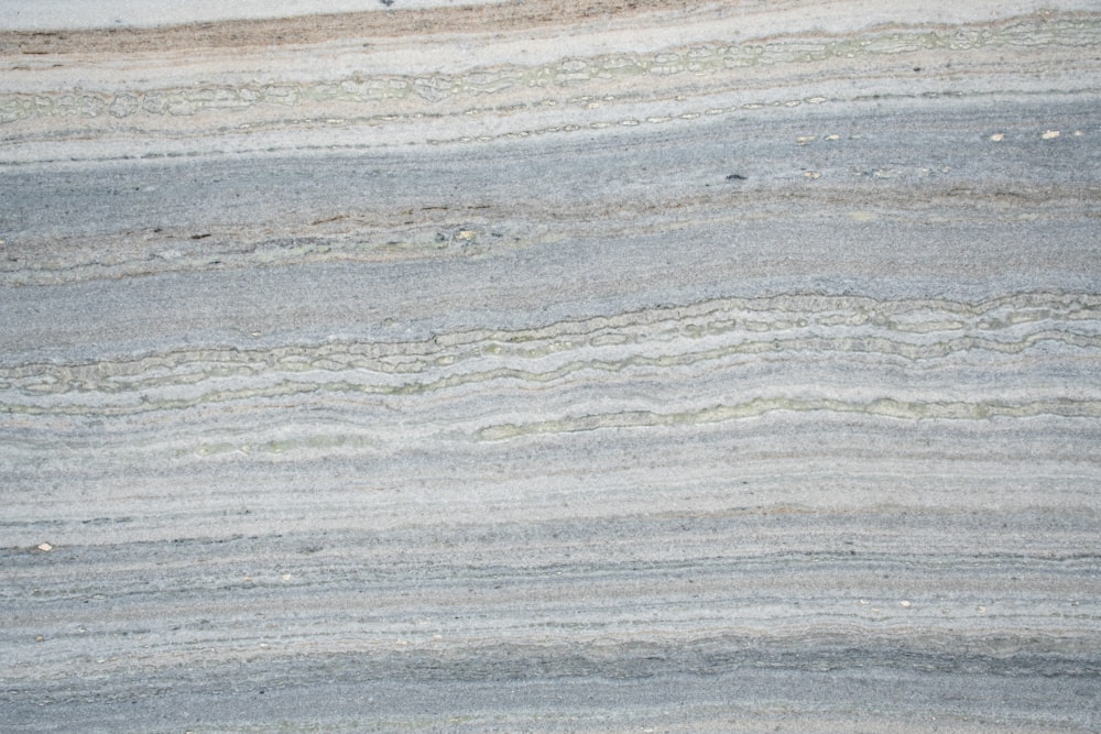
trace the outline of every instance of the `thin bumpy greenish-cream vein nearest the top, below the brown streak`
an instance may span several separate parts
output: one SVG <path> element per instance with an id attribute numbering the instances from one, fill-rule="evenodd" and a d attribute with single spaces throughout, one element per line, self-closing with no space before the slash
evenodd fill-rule
<path id="1" fill-rule="evenodd" d="M 128 120 L 129 118 L 156 118 L 162 116 L 215 116 L 226 112 L 249 112 L 253 108 L 260 113 L 264 108 L 307 108 L 316 116 L 318 109 L 327 106 L 349 113 L 348 118 L 318 119 L 312 122 L 348 124 L 359 120 L 375 122 L 413 123 L 416 113 L 410 113 L 406 100 L 421 105 L 438 105 L 444 101 L 477 100 L 475 107 L 448 110 L 446 107 L 433 117 L 478 116 L 490 113 L 517 114 L 539 107 L 566 105 L 581 109 L 612 108 L 643 99 L 661 98 L 663 87 L 679 91 L 678 76 L 691 75 L 693 94 L 696 96 L 718 95 L 738 89 L 752 89 L 753 75 L 746 70 L 767 67 L 768 87 L 776 83 L 773 67 L 794 66 L 784 69 L 793 80 L 803 75 L 814 75 L 820 65 L 850 59 L 864 61 L 876 57 L 895 57 L 898 63 L 906 56 L 917 56 L 922 52 L 949 52 L 952 54 L 1013 51 L 1027 54 L 1029 50 L 1042 48 L 1044 61 L 1050 58 L 1053 50 L 1069 52 L 1091 46 L 1098 34 L 1099 19 L 1095 14 L 1076 14 L 1053 19 L 1049 15 L 1018 17 L 986 24 L 962 24 L 958 26 L 937 25 L 933 28 L 894 26 L 877 28 L 872 32 L 854 34 L 770 35 L 751 39 L 737 44 L 723 43 L 719 37 L 690 46 L 673 46 L 653 53 L 615 53 L 591 56 L 571 56 L 564 61 L 538 66 L 501 65 L 473 67 L 462 74 L 432 74 L 425 76 L 389 74 L 377 75 L 355 72 L 349 76 L 309 81 L 271 80 L 251 83 L 243 86 L 181 86 L 177 88 L 155 88 L 149 90 L 128 89 L 118 92 L 94 91 L 81 87 L 78 90 L 41 90 L 35 94 L 0 95 L 0 123 L 17 123 L 40 118 L 67 118 L 91 120 L 97 118 Z M 28 52 L 23 52 L 28 53 Z M 364 54 L 366 56 L 366 54 Z M 901 57 L 901 58 L 900 58 Z M 64 57 L 62 57 L 64 58 Z M 364 59 L 366 61 L 366 59 Z M 372 59 L 373 61 L 373 59 Z M 970 59 L 969 59 L 970 61 Z M 1026 59 L 1022 59 L 1025 63 Z M 811 68 L 799 68 L 811 66 Z M 797 70 L 796 70 L 797 69 Z M 30 70 L 15 67 L 13 72 Z M 848 73 L 850 69 L 844 68 Z M 980 69 L 974 69 L 981 73 Z M 1020 73 L 1021 67 L 1014 69 Z M 835 70 L 824 75 L 821 81 L 833 78 L 851 78 L 850 74 Z M 782 72 L 783 73 L 783 72 Z M 802 74 L 800 74 L 802 73 Z M 43 75 L 35 75 L 41 79 Z M 750 78 L 746 79 L 746 76 Z M 817 76 L 817 75 L 816 75 Z M 644 79 L 645 88 L 632 84 Z M 745 83 L 750 81 L 749 85 Z M 17 83 L 18 84 L 18 83 Z M 676 85 L 676 86 L 674 86 Z M 532 99 L 531 90 L 563 90 L 574 92 L 563 96 L 541 96 Z M 617 94 L 602 94 L 614 89 Z M 578 94 L 580 92 L 580 94 Z M 935 91 L 933 94 L 936 94 Z M 784 103 L 820 105 L 831 101 L 825 97 L 784 100 Z M 840 100 L 833 100 L 840 101 Z M 760 102 L 757 102 L 760 105 Z M 754 109 L 754 102 L 743 102 L 743 110 Z M 734 108 L 738 109 L 738 108 Z M 733 109 L 708 108 L 704 114 L 721 114 Z M 401 112 L 401 113 L 397 113 Z M 700 116 L 683 112 L 682 120 L 693 120 Z M 421 117 L 424 117 L 423 114 Z M 249 119 L 249 118 L 246 118 Z M 263 118 L 261 118 L 263 119 Z M 675 118 L 650 117 L 645 121 L 633 120 L 636 124 L 672 121 Z M 129 121 L 129 120 L 128 120 Z M 284 123 L 265 120 L 265 124 Z M 609 124 L 623 124 L 624 120 L 595 120 L 587 127 L 601 129 Z M 251 123 L 239 123 L 241 125 Z M 434 124 L 439 124 L 438 121 Z M 573 123 L 575 128 L 580 125 Z M 568 128 L 567 125 L 566 128 Z M 218 129 L 216 129 L 217 131 Z M 550 130 L 546 130 L 549 132 Z M 563 128 L 562 131 L 569 132 Z M 538 131 L 505 133 L 505 136 L 525 136 Z M 500 135 L 500 133 L 498 133 Z M 479 140 L 481 136 L 479 138 Z M 459 138 L 460 142 L 473 140 Z"/>

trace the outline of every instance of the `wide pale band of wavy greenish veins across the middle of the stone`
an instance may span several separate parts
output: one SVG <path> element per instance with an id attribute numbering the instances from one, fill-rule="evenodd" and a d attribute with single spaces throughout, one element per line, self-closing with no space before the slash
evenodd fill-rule
<path id="1" fill-rule="evenodd" d="M 34 362 L 0 369 L 0 412 L 13 449 L 132 451 L 148 436 L 164 450 L 199 435 L 200 456 L 382 450 L 394 439 L 501 440 L 774 410 L 1097 418 L 1099 304 L 1045 293 L 978 305 L 731 298 L 427 341 Z M 273 410 L 299 417 L 280 427 L 261 419 L 249 439 L 244 427 Z"/>

